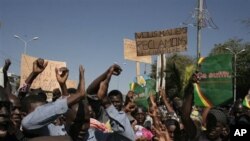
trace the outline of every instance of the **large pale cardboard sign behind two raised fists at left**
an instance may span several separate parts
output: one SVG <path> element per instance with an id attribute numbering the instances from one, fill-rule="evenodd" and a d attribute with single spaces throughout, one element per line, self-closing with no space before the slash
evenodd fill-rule
<path id="1" fill-rule="evenodd" d="M 20 86 L 23 86 L 25 80 L 32 72 L 33 69 L 33 62 L 38 59 L 36 57 L 22 55 L 21 58 L 21 81 Z M 59 61 L 52 61 L 52 60 L 45 60 L 48 61 L 48 65 L 45 70 L 37 76 L 37 78 L 33 81 L 31 88 L 42 88 L 45 91 L 52 91 L 55 88 L 60 88 L 59 84 L 56 80 L 55 68 L 66 67 L 65 62 Z"/>

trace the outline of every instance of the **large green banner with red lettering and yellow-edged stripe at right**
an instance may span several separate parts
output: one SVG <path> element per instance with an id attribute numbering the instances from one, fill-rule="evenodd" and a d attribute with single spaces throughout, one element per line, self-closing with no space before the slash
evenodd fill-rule
<path id="1" fill-rule="evenodd" d="M 201 80 L 194 84 L 195 105 L 213 107 L 232 102 L 232 55 L 201 58 L 199 66 Z"/>

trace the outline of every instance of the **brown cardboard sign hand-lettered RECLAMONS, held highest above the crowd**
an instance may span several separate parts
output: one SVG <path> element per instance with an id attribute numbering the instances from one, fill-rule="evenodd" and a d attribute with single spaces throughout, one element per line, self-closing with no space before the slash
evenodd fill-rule
<path id="1" fill-rule="evenodd" d="M 187 27 L 135 33 L 137 56 L 187 50 Z"/>

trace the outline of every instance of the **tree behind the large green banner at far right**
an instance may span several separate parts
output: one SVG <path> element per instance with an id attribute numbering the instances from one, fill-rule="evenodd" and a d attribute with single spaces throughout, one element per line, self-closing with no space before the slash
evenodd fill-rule
<path id="1" fill-rule="evenodd" d="M 236 95 L 237 98 L 243 98 L 250 89 L 250 43 L 243 43 L 241 39 L 236 38 L 229 39 L 223 44 L 215 44 L 209 55 L 231 53 L 229 50 L 226 50 L 226 48 L 231 49 L 233 52 L 239 52 L 245 49 L 244 52 L 237 54 L 236 60 Z"/>

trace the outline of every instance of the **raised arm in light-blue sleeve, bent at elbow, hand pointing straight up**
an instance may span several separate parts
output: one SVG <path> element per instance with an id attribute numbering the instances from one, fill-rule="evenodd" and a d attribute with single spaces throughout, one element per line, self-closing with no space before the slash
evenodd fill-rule
<path id="1" fill-rule="evenodd" d="M 37 107 L 22 120 L 22 126 L 26 130 L 34 130 L 46 126 L 49 123 L 52 123 L 60 115 L 65 114 L 68 111 L 68 107 L 78 103 L 84 97 L 84 69 L 80 66 L 79 87 L 77 89 L 77 93 L 70 95 L 67 98 L 58 99 L 55 102 Z"/>

